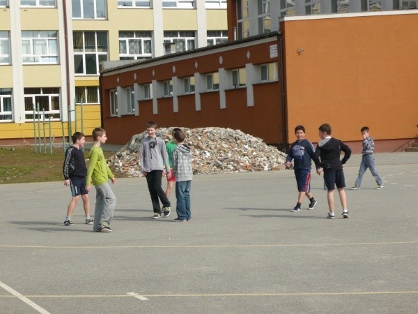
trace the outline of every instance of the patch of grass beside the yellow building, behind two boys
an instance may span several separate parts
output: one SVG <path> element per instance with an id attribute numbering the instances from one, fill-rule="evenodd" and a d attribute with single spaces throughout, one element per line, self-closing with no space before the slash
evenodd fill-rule
<path id="1" fill-rule="evenodd" d="M 88 158 L 88 149 L 84 156 Z M 116 152 L 104 151 L 104 157 L 110 158 Z M 47 148 L 35 152 L 33 146 L 0 147 L 0 184 L 17 184 L 30 182 L 63 181 L 64 151 L 62 147 L 53 147 L 52 154 Z M 86 162 L 88 165 L 88 162 Z M 122 177 L 120 172 L 116 177 Z"/>

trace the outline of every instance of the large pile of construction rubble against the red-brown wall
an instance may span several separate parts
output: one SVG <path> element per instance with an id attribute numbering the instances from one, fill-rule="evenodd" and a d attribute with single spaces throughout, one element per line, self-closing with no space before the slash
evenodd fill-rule
<path id="1" fill-rule="evenodd" d="M 158 128 L 157 136 L 172 139 L 173 128 Z M 284 170 L 286 154 L 265 144 L 260 138 L 230 128 L 181 128 L 185 144 L 192 151 L 194 174 L 219 174 Z M 130 142 L 109 158 L 108 164 L 128 177 L 141 177 L 139 149 L 146 132 L 132 136 Z"/>

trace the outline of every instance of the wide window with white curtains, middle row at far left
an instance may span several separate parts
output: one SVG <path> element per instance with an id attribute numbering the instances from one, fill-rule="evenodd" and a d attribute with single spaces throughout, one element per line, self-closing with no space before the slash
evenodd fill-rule
<path id="1" fill-rule="evenodd" d="M 58 31 L 22 31 L 23 63 L 58 63 Z"/>

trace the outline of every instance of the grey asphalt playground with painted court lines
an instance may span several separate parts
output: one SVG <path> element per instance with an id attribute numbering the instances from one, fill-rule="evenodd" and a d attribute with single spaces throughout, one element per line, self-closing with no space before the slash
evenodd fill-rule
<path id="1" fill-rule="evenodd" d="M 152 220 L 146 180 L 118 179 L 111 234 L 84 224 L 81 201 L 63 226 L 63 181 L 0 185 L 0 313 L 418 313 L 418 154 L 376 165 L 385 188 L 366 172 L 334 220 L 314 171 L 318 204 L 299 213 L 292 170 L 196 175 L 187 223 L 175 195 Z"/>

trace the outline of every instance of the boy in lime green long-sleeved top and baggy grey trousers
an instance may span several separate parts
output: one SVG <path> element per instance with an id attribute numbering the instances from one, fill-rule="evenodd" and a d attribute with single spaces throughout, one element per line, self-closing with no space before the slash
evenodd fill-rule
<path id="1" fill-rule="evenodd" d="M 93 182 L 96 188 L 93 231 L 111 232 L 110 222 L 115 211 L 116 197 L 107 181 L 111 179 L 111 182 L 116 184 L 116 178 L 107 166 L 102 147 L 100 147 L 107 140 L 106 131 L 102 128 L 95 128 L 92 136 L 94 144 L 88 154 L 90 162 L 88 163 L 86 190 L 88 192 L 91 190 L 91 182 Z"/>

